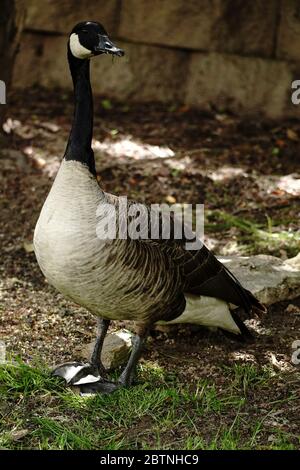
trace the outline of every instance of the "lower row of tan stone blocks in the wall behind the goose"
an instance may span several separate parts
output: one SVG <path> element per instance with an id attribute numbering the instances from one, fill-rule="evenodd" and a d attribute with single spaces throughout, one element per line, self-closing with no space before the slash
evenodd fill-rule
<path id="1" fill-rule="evenodd" d="M 96 95 L 101 93 L 121 100 L 184 102 L 238 113 L 263 112 L 271 118 L 300 117 L 300 106 L 291 104 L 295 76 L 291 63 L 124 41 L 118 45 L 126 52 L 124 58 L 112 62 L 105 55 L 91 60 L 96 105 Z M 16 88 L 38 83 L 50 89 L 71 89 L 66 36 L 37 38 L 23 33 L 14 71 Z"/>

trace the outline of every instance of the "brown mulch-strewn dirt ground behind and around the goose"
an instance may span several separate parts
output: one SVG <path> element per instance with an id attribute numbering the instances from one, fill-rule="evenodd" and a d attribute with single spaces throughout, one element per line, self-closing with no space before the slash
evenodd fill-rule
<path id="1" fill-rule="evenodd" d="M 71 95 L 60 91 L 15 93 L 5 125 L 12 145 L 0 160 L 0 339 L 9 352 L 49 365 L 79 359 L 95 333 L 90 314 L 47 284 L 32 251 L 72 106 Z M 106 191 L 147 203 L 204 203 L 205 242 L 215 253 L 286 258 L 299 251 L 299 122 L 156 103 L 129 106 L 97 96 L 93 145 Z M 279 238 L 266 243 L 258 229 Z M 299 368 L 291 361 L 292 343 L 300 340 L 299 311 L 300 299 L 272 306 L 261 321 L 251 320 L 257 339 L 248 345 L 193 327 L 154 332 L 143 360 L 176 371 L 184 382 L 211 377 L 220 387 L 224 366 L 269 366 L 279 373 L 276 386 L 253 399 L 276 400 L 287 390 L 299 392 Z M 285 410 L 287 428 L 297 427 L 299 410 L 299 402 Z"/>

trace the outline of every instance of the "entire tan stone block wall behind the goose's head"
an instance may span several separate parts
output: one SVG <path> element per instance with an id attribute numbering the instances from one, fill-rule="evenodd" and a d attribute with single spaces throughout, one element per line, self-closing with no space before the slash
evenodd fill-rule
<path id="1" fill-rule="evenodd" d="M 45 0 L 42 9 L 36 0 L 27 4 L 16 88 L 72 88 L 67 33 L 76 21 L 94 17 L 99 5 L 101 21 L 122 37 L 118 44 L 126 55 L 113 64 L 110 56 L 91 61 L 95 95 L 300 117 L 300 106 L 291 103 L 291 83 L 300 76 L 296 0 L 153 0 L 151 7 L 149 0 Z M 276 44 L 282 60 L 274 60 Z"/>

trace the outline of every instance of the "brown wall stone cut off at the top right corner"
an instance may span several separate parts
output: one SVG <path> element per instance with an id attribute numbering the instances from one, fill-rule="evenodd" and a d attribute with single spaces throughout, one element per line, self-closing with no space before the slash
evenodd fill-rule
<path id="1" fill-rule="evenodd" d="M 284 2 L 281 2 L 277 57 L 284 60 L 300 61 L 299 0 L 284 0 Z"/>

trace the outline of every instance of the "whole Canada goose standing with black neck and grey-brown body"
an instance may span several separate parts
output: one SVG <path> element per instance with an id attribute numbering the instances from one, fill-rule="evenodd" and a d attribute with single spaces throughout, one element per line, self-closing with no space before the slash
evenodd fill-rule
<path id="1" fill-rule="evenodd" d="M 106 393 L 131 385 L 143 343 L 156 322 L 189 322 L 191 309 L 197 309 L 197 323 L 247 336 L 246 326 L 228 304 L 247 314 L 265 309 L 202 244 L 187 250 L 186 239 L 174 236 L 169 240 L 97 236 L 97 223 L 105 216 L 107 204 L 122 211 L 119 198 L 105 193 L 98 184 L 91 148 L 89 66 L 90 58 L 102 53 L 124 55 L 101 24 L 77 24 L 68 41 L 74 119 L 60 169 L 36 224 L 34 249 L 48 282 L 98 317 L 90 364 L 69 363 L 55 373 L 67 382 L 83 384 L 83 391 Z M 172 219 L 173 229 L 174 223 Z M 213 315 L 205 309 L 206 296 L 219 299 Z M 112 319 L 137 324 L 130 358 L 116 384 L 103 378 L 100 360 Z"/>

